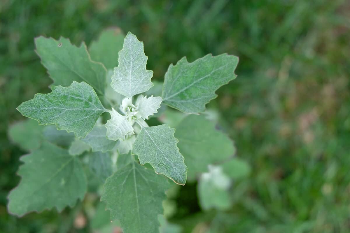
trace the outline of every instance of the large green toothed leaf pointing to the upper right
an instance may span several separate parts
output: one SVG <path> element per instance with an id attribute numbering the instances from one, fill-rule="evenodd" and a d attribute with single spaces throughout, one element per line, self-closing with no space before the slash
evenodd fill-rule
<path id="1" fill-rule="evenodd" d="M 205 104 L 216 98 L 215 91 L 236 78 L 237 64 L 238 57 L 226 53 L 208 54 L 192 63 L 183 57 L 165 74 L 163 102 L 189 114 L 204 112 Z"/>

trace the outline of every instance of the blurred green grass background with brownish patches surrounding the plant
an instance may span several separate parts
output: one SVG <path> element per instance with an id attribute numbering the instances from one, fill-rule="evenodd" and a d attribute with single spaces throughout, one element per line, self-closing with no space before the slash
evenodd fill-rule
<path id="1" fill-rule="evenodd" d="M 345 0 L 1 1 L 0 232 L 88 232 L 108 220 L 99 214 L 100 221 L 89 221 L 94 196 L 62 214 L 19 219 L 6 210 L 25 153 L 10 143 L 8 126 L 23 119 L 15 108 L 50 92 L 52 82 L 34 37 L 90 44 L 108 27 L 144 41 L 153 80 L 162 81 L 183 56 L 240 57 L 238 78 L 208 107 L 218 110 L 220 128 L 252 172 L 233 183 L 233 204 L 224 211 L 202 210 L 196 183 L 170 190 L 173 231 L 349 232 L 349 25 Z"/>

